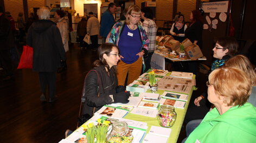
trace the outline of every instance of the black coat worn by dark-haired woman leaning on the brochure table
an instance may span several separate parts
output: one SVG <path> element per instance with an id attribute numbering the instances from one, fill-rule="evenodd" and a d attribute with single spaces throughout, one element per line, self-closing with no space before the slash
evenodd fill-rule
<path id="1" fill-rule="evenodd" d="M 95 71 L 97 71 L 98 74 Z M 113 68 L 110 69 L 110 76 L 107 75 L 104 66 L 99 66 L 90 70 L 86 75 L 84 83 L 83 94 L 86 101 L 82 109 L 82 114 L 89 114 L 92 116 L 93 107 L 96 107 L 95 112 L 97 112 L 104 105 L 111 104 L 112 99 L 109 95 L 116 94 L 117 85 L 117 76 L 114 73 Z"/>

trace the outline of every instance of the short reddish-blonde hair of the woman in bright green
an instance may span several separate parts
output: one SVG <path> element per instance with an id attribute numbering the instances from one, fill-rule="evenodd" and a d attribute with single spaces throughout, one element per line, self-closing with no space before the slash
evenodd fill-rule
<path id="1" fill-rule="evenodd" d="M 245 72 L 238 68 L 221 67 L 209 75 L 209 83 L 215 93 L 223 96 L 227 106 L 242 106 L 252 92 L 252 83 Z"/>

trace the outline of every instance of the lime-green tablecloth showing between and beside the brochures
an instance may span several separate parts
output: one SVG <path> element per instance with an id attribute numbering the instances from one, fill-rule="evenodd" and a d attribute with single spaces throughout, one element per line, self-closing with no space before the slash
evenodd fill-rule
<path id="1" fill-rule="evenodd" d="M 170 75 L 170 73 L 168 73 L 167 75 Z M 195 79 L 195 75 L 193 75 L 193 79 Z M 177 118 L 176 118 L 176 122 L 175 122 L 174 126 L 171 127 L 171 133 L 169 135 L 168 142 L 177 142 L 177 139 L 178 139 L 178 136 L 179 136 L 180 131 L 181 131 L 181 127 L 182 127 L 182 124 L 183 124 L 183 121 L 184 121 L 184 118 L 185 118 L 185 114 L 186 114 L 187 109 L 188 109 L 189 101 L 190 101 L 191 95 L 193 93 L 193 90 L 196 90 L 195 86 L 193 86 L 193 88 L 191 88 L 191 90 L 188 94 L 189 95 L 188 100 L 185 103 L 184 109 L 175 108 L 175 112 L 177 113 Z M 146 93 L 151 93 L 151 92 L 150 92 L 150 90 L 147 90 Z M 164 93 L 164 90 L 158 90 L 157 93 L 159 95 L 162 95 Z M 124 117 L 124 119 L 146 122 L 147 126 L 148 126 L 148 129 L 147 129 L 146 133 L 149 133 L 149 130 L 150 130 L 151 126 L 160 127 L 160 125 L 158 124 L 157 118 L 150 118 L 148 116 L 128 113 Z M 76 129 L 76 131 L 74 131 L 74 132 L 80 132 L 79 130 L 81 130 L 81 127 Z"/>

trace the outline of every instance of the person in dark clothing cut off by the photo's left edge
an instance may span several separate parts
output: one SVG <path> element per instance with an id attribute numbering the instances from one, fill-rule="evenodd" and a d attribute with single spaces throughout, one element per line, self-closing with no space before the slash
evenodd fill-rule
<path id="1" fill-rule="evenodd" d="M 3 80 L 11 79 L 12 62 L 10 48 L 14 47 L 14 36 L 11 31 L 11 23 L 3 14 L 3 8 L 0 6 L 0 64 L 5 70 Z"/>

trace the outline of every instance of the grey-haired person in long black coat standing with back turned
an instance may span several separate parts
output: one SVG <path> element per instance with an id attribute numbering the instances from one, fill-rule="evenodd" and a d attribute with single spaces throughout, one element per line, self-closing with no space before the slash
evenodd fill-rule
<path id="1" fill-rule="evenodd" d="M 55 82 L 60 61 L 66 60 L 65 50 L 56 24 L 49 20 L 50 11 L 46 7 L 37 10 L 39 21 L 28 29 L 27 44 L 33 47 L 33 70 L 39 72 L 42 94 L 41 101 L 46 101 L 48 86 L 49 102 L 55 101 Z"/>

